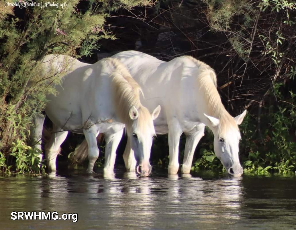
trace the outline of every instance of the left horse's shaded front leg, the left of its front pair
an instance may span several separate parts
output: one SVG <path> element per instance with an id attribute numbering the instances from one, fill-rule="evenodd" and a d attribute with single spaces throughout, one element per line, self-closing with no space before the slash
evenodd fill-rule
<path id="1" fill-rule="evenodd" d="M 83 134 L 89 147 L 87 153 L 87 156 L 89 158 L 87 172 L 91 173 L 94 169 L 94 163 L 96 163 L 96 159 L 98 159 L 99 157 L 100 151 L 96 142 L 96 136 L 99 135 L 99 133 L 96 132 L 96 126 L 92 125 L 89 129 L 83 129 Z"/>

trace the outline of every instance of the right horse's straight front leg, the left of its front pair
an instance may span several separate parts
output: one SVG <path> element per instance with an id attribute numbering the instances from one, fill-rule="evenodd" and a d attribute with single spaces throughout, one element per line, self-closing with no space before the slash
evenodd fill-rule
<path id="1" fill-rule="evenodd" d="M 168 174 L 176 174 L 179 170 L 179 142 L 182 134 L 181 127 L 177 121 L 168 124 L 168 147 L 170 152 L 170 163 Z"/>

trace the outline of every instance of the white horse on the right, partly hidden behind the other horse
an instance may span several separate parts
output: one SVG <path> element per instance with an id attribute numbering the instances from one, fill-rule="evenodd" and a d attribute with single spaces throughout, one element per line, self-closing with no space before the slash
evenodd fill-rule
<path id="1" fill-rule="evenodd" d="M 160 104 L 162 108 L 154 126 L 157 134 L 168 133 L 169 174 L 176 174 L 179 169 L 178 148 L 182 132 L 186 135 L 186 145 L 181 172 L 190 172 L 194 150 L 204 135 L 205 125 L 214 134 L 215 155 L 227 172 L 234 176 L 243 173 L 238 155 L 241 139 L 238 125 L 246 110 L 235 118 L 226 111 L 211 67 L 191 56 L 165 62 L 138 51 L 123 51 L 112 58 L 119 59 L 142 87 L 143 105 L 151 109 Z M 129 143 L 123 158 L 126 168 L 132 171 L 136 161 Z"/>

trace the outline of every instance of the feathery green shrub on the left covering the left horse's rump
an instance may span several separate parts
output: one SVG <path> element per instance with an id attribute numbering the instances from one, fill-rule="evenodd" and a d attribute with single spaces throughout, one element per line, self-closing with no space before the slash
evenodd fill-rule
<path id="1" fill-rule="evenodd" d="M 149 4 L 70 0 L 64 7 L 59 4 L 65 1 L 29 5 L 41 2 L 0 2 L 0 167 L 8 172 L 12 165 L 21 173 L 39 171 L 28 130 L 32 117 L 44 108 L 45 95 L 54 93 L 58 76 L 41 75 L 38 60 L 49 53 L 91 55 L 100 39 L 114 39 L 105 22 L 110 10 Z"/>

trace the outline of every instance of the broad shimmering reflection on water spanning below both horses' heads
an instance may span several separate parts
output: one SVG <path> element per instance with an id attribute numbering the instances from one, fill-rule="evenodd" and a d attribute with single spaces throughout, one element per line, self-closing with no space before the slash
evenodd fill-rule
<path id="1" fill-rule="evenodd" d="M 135 216 L 141 217 L 141 226 L 165 227 L 163 220 L 172 218 L 200 219 L 219 225 L 221 218 L 229 221 L 240 218 L 241 179 L 212 180 L 190 174 L 137 179 L 135 172 L 126 172 L 123 178 L 108 178 L 97 186 L 98 197 L 104 200 L 107 212 L 131 228 L 139 227 L 139 223 L 132 221 Z M 162 218 L 155 218 L 157 213 L 161 213 Z M 182 222 L 175 227 L 181 228 Z"/>

